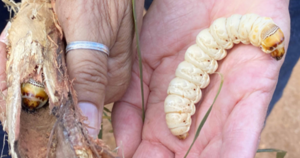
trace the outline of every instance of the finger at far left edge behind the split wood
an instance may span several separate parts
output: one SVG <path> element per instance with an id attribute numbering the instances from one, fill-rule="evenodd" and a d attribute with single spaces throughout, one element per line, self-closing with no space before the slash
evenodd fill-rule
<path id="1" fill-rule="evenodd" d="M 0 120 L 1 122 L 5 121 L 5 112 L 6 112 L 6 102 L 5 102 L 5 96 L 7 93 L 7 87 L 6 87 L 6 34 L 7 30 L 10 26 L 10 23 L 6 25 L 4 30 L 2 31 L 0 35 Z"/>

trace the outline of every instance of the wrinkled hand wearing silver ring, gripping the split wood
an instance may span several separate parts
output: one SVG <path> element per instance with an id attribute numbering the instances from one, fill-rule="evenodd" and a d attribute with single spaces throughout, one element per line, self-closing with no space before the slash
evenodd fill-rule
<path id="1" fill-rule="evenodd" d="M 137 12 L 143 12 L 143 1 Z M 55 13 L 67 43 L 92 41 L 107 45 L 110 57 L 100 51 L 72 50 L 67 54 L 67 69 L 83 114 L 88 116 L 89 134 L 100 131 L 104 104 L 119 100 L 130 83 L 134 60 L 134 25 L 131 0 L 70 1 L 56 0 Z M 139 17 L 141 20 L 142 16 Z M 5 45 L 0 43 L 0 81 L 5 85 Z M 1 99 L 2 100 L 2 99 Z M 5 108 L 5 101 L 1 101 Z M 5 110 L 0 110 L 0 112 Z"/>

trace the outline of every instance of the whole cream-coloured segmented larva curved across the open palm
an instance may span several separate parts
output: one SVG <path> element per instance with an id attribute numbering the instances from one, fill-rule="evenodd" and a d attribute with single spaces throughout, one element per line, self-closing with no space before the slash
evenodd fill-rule
<path id="1" fill-rule="evenodd" d="M 167 126 L 173 135 L 185 139 L 190 130 L 195 104 L 201 99 L 201 89 L 209 84 L 209 74 L 218 68 L 226 49 L 234 43 L 251 43 L 276 60 L 284 54 L 284 36 L 271 18 L 256 14 L 238 15 L 216 19 L 209 28 L 196 37 L 176 69 L 164 102 Z"/>

